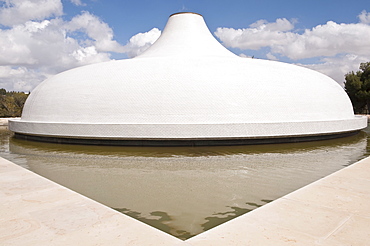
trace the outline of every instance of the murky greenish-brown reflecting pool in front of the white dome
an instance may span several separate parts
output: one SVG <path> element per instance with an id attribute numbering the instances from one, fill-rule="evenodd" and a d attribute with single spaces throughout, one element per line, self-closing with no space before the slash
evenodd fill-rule
<path id="1" fill-rule="evenodd" d="M 112 147 L 18 140 L 3 128 L 0 155 L 186 239 L 364 158 L 368 131 L 295 144 Z"/>

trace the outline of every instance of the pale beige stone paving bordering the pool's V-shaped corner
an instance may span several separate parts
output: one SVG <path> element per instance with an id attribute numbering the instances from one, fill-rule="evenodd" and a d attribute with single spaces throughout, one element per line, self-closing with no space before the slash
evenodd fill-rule
<path id="1" fill-rule="evenodd" d="M 370 157 L 177 239 L 0 158 L 0 245 L 369 245 Z"/>

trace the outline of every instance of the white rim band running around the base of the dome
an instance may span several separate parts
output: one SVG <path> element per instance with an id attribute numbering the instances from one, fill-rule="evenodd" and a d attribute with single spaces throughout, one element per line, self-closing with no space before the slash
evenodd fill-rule
<path id="1" fill-rule="evenodd" d="M 365 119 L 365 120 L 364 120 Z M 83 124 L 13 120 L 18 133 L 108 139 L 248 139 L 347 132 L 366 127 L 366 116 L 352 120 L 239 124 Z"/>

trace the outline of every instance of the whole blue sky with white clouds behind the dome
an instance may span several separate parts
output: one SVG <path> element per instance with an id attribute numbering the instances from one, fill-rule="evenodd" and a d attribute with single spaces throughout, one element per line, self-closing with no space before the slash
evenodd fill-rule
<path id="1" fill-rule="evenodd" d="M 0 87 L 32 91 L 66 69 L 134 57 L 158 38 L 169 15 L 182 11 L 202 14 L 237 55 L 306 66 L 341 84 L 346 72 L 370 61 L 369 6 L 365 0 L 0 0 Z"/>

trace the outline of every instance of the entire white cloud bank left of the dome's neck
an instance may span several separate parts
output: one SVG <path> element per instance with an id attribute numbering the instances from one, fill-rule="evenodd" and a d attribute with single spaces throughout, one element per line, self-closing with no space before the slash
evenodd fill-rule
<path id="1" fill-rule="evenodd" d="M 3 6 L 0 11 L 8 11 L 9 17 L 20 13 L 24 8 L 21 2 L 8 1 L 0 5 Z M 31 4 L 31 9 L 36 3 L 60 3 L 46 0 L 23 2 Z M 59 10 L 62 11 L 61 6 Z M 121 45 L 114 40 L 112 28 L 89 12 L 82 12 L 70 21 L 61 17 L 38 20 L 59 14 L 58 11 L 44 11 L 43 14 L 7 22 L 11 27 L 0 29 L 0 88 L 31 91 L 44 79 L 61 71 L 109 61 L 111 52 L 134 57 L 153 44 L 161 33 L 153 28 Z"/>

